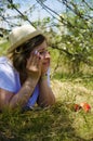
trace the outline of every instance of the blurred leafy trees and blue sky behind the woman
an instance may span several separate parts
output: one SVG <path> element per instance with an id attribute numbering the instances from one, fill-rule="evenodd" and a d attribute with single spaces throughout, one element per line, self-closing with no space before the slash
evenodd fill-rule
<path id="1" fill-rule="evenodd" d="M 93 74 L 92 0 L 1 0 L 0 55 L 10 46 L 11 29 L 24 23 L 41 28 L 48 37 L 53 76 Z"/>

